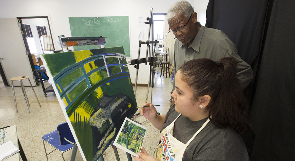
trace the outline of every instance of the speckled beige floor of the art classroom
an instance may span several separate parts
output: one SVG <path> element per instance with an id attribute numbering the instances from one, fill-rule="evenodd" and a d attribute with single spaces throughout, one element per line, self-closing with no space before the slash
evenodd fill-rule
<path id="1" fill-rule="evenodd" d="M 152 103 L 154 105 L 161 105 L 157 107 L 157 111 L 160 114 L 165 114 L 169 109 L 169 99 L 171 97 L 172 84 L 170 82 L 171 76 L 160 77 L 159 73 L 155 74 L 154 87 L 152 88 Z M 27 81 L 27 80 L 24 80 Z M 32 79 L 31 79 L 32 81 Z M 14 84 L 17 84 L 15 82 Z M 48 87 L 50 82 L 45 81 L 45 87 Z M 25 87 L 27 93 L 33 93 L 31 87 Z M 0 127 L 5 126 L 17 126 L 17 135 L 22 148 L 24 149 L 27 160 L 39 161 L 46 160 L 44 147 L 42 143 L 42 136 L 56 130 L 60 123 L 66 122 L 65 116 L 60 108 L 58 99 L 54 93 L 47 93 L 47 97 L 44 96 L 41 86 L 34 87 L 37 97 L 42 107 L 39 107 L 35 97 L 29 98 L 30 102 L 30 113 L 27 111 L 24 100 L 17 100 L 18 113 L 16 113 L 12 87 L 5 87 L 2 79 L 0 78 Z M 21 88 L 15 87 L 16 96 L 22 95 Z M 147 93 L 147 87 L 137 87 L 136 101 L 138 106 L 145 103 Z M 150 102 L 150 93 L 148 102 Z M 138 112 L 136 112 L 138 113 Z M 137 116 L 134 118 L 138 122 L 145 121 L 143 116 Z M 158 145 L 160 139 L 160 132 L 153 125 L 146 121 L 142 123 L 143 126 L 147 127 L 147 133 L 144 140 L 144 147 L 150 155 Z M 48 144 L 46 145 L 47 152 L 53 150 Z M 65 160 L 71 159 L 72 150 L 65 152 L 63 155 Z M 103 155 L 105 161 L 115 161 L 116 157 L 112 148 L 107 149 L 106 155 Z M 119 157 L 121 161 L 127 161 L 126 152 L 118 148 Z M 132 158 L 133 159 L 133 158 Z M 62 157 L 58 151 L 51 153 L 48 156 L 49 161 L 61 161 Z M 77 152 L 77 161 L 82 161 L 81 153 Z M 134 159 L 133 159 L 134 160 Z"/>

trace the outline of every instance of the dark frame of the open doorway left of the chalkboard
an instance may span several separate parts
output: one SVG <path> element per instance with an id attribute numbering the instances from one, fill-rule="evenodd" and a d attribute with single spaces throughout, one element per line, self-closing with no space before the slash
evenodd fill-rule
<path id="1" fill-rule="evenodd" d="M 50 35 L 51 35 L 51 41 L 52 41 L 52 47 L 53 47 L 53 50 L 54 49 L 54 43 L 53 43 L 53 38 L 52 38 L 52 32 L 51 32 L 51 29 L 50 29 L 50 24 L 49 24 L 49 19 L 48 19 L 48 16 L 33 16 L 33 17 L 17 17 L 17 21 L 20 23 L 21 27 L 21 32 L 22 32 L 22 38 L 24 40 L 24 45 L 26 47 L 26 50 L 27 50 L 27 55 L 29 57 L 29 61 L 30 61 L 30 64 L 31 64 L 31 68 L 32 68 L 32 72 L 33 72 L 33 75 L 34 75 L 34 79 L 35 79 L 35 82 L 37 85 L 40 85 L 38 82 L 38 77 L 37 77 L 37 71 L 35 71 L 35 66 L 34 66 L 34 62 L 33 62 L 33 59 L 32 59 L 32 56 L 31 56 L 31 53 L 30 53 L 30 48 L 29 48 L 29 45 L 28 45 L 28 42 L 27 42 L 27 35 L 24 34 L 24 25 L 22 24 L 22 19 L 37 19 L 37 18 L 47 18 L 47 23 L 48 23 L 48 27 L 49 27 L 49 32 L 50 32 Z M 43 50 L 43 48 L 42 48 Z M 41 79 L 40 79 L 41 80 Z"/>

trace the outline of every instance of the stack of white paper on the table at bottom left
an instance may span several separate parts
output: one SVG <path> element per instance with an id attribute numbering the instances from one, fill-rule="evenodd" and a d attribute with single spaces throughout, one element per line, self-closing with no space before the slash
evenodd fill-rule
<path id="1" fill-rule="evenodd" d="M 0 145 L 0 161 L 14 155 L 17 152 L 19 152 L 19 149 L 15 147 L 11 140 Z"/>

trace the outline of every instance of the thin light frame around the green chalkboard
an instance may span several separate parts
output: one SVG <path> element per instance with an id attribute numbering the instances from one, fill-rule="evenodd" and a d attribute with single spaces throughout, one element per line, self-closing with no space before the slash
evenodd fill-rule
<path id="1" fill-rule="evenodd" d="M 128 26 L 129 26 L 129 29 L 128 29 L 128 31 L 129 31 L 129 48 L 130 48 L 130 56 L 128 56 L 128 53 L 125 53 L 125 57 L 126 58 L 130 58 L 130 59 L 132 59 L 131 57 L 132 57 L 132 54 L 131 54 L 131 33 L 130 33 L 130 15 L 107 15 L 107 16 L 68 16 L 68 19 L 69 19 L 69 28 L 70 28 L 70 32 L 71 32 L 71 36 L 78 36 L 78 35 L 72 35 L 72 31 L 71 31 L 71 23 L 70 23 L 70 18 L 82 18 L 82 17 L 85 17 L 85 18 L 89 18 L 89 19 L 91 19 L 91 18 L 94 18 L 94 17 L 96 17 L 96 18 L 98 18 L 98 17 L 122 17 L 122 16 L 126 16 L 126 17 L 128 17 Z M 81 36 L 81 35 L 79 35 L 79 36 Z M 83 36 L 83 35 L 82 35 Z M 109 37 L 108 35 L 102 35 L 103 37 Z M 94 36 L 95 37 L 95 36 Z M 96 36 L 97 37 L 97 36 Z M 112 42 L 108 42 L 109 41 L 109 39 L 106 39 L 106 44 L 108 44 L 108 43 L 112 43 Z M 94 46 L 94 45 L 93 45 Z M 119 45 L 120 46 L 120 45 Z M 122 46 L 122 45 L 121 45 Z M 112 46 L 112 47 L 117 47 L 117 46 Z M 96 45 L 96 47 L 89 47 L 90 49 L 97 49 L 97 48 L 99 48 L 98 47 L 98 45 Z M 82 49 L 82 50 L 84 50 L 84 49 Z M 74 47 L 74 51 L 76 51 L 75 50 L 75 47 Z"/>

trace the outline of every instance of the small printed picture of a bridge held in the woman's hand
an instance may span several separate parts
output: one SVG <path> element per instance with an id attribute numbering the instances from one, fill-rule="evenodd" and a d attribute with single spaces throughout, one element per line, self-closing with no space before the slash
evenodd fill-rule
<path id="1" fill-rule="evenodd" d="M 126 117 L 113 145 L 137 156 L 137 153 L 141 151 L 145 131 L 146 127 Z"/>

